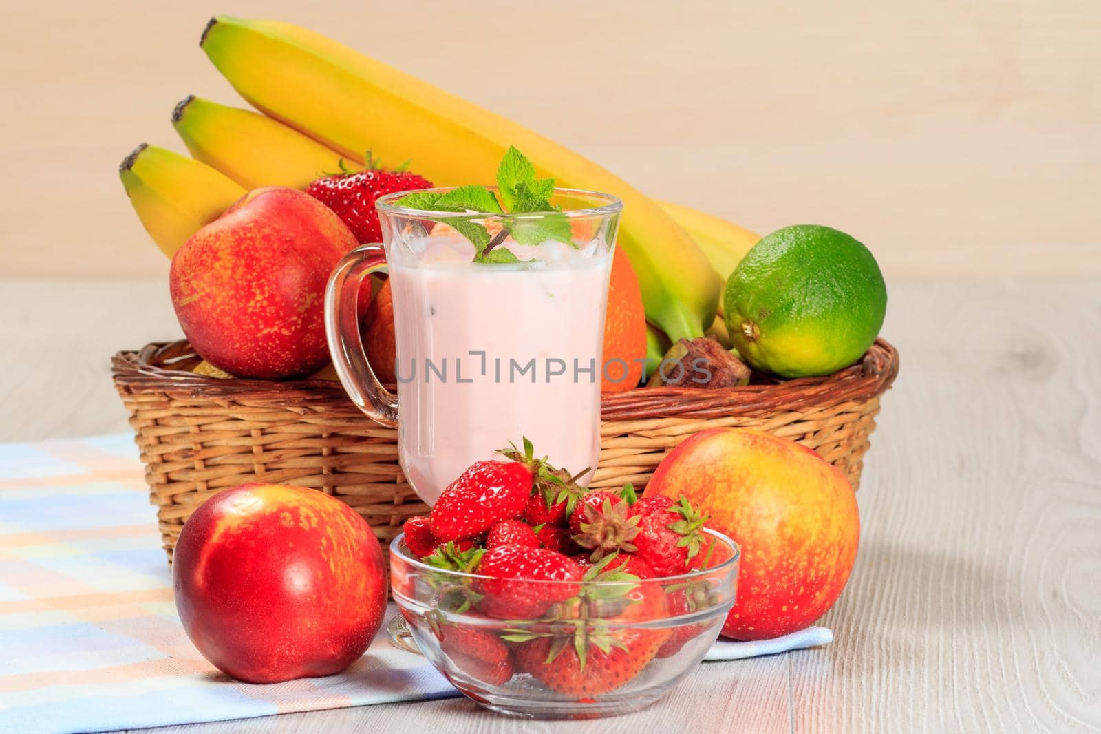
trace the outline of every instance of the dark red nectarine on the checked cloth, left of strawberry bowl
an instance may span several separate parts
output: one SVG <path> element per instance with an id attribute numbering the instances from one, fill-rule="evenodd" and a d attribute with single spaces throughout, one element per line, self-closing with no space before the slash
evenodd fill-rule
<path id="1" fill-rule="evenodd" d="M 382 624 L 382 550 L 316 489 L 244 484 L 187 519 L 172 564 L 179 620 L 203 656 L 250 683 L 330 676 Z"/>

